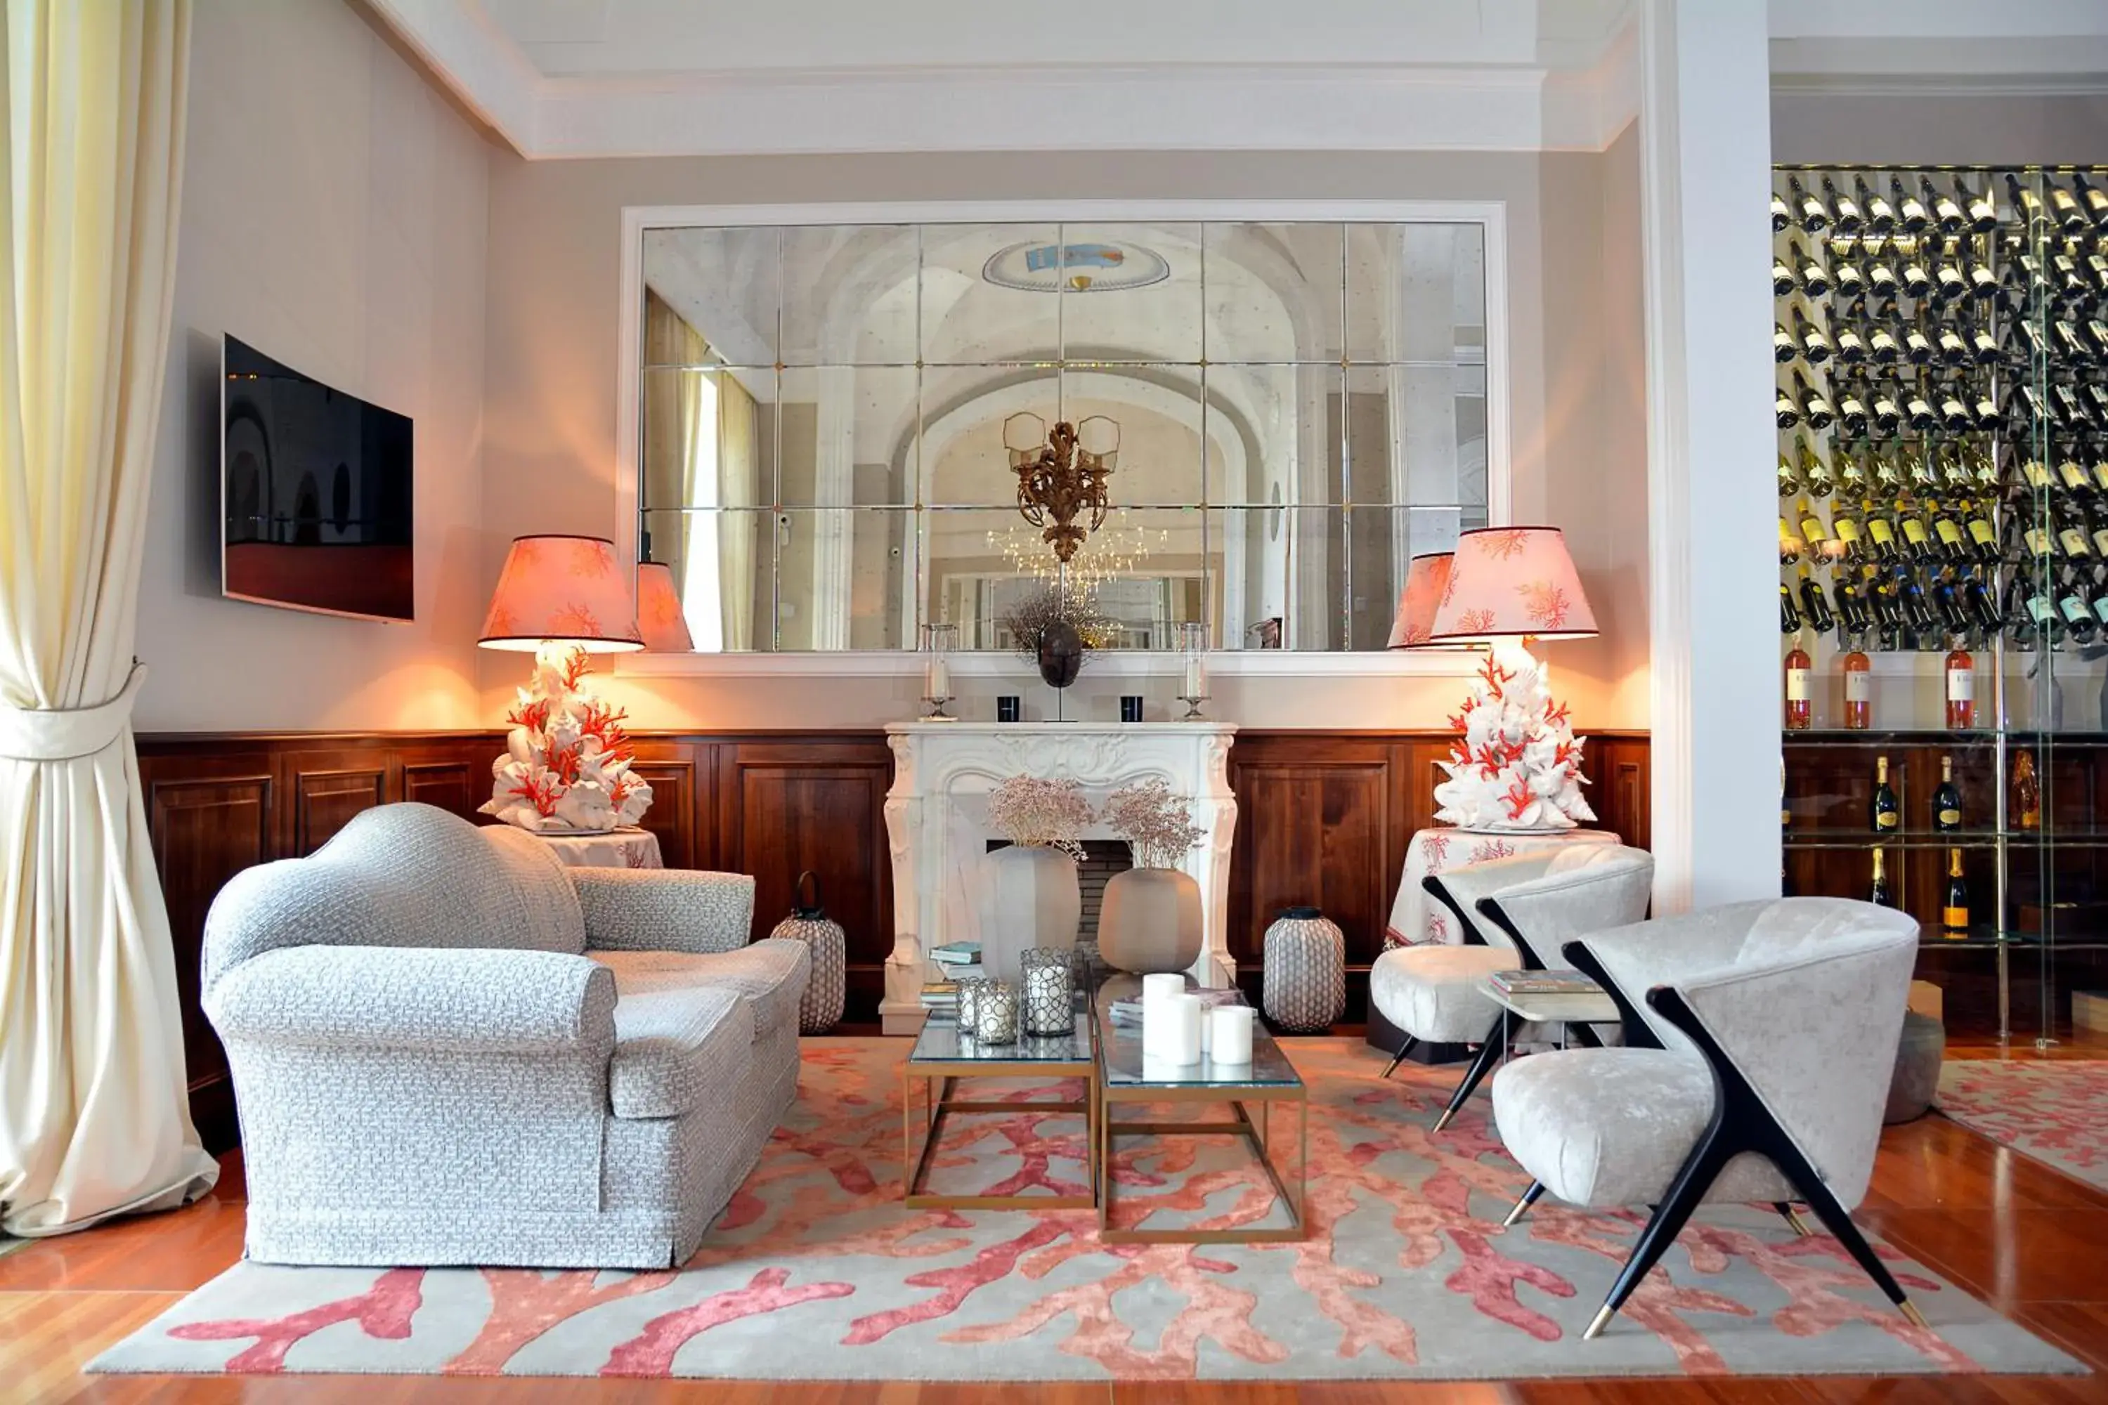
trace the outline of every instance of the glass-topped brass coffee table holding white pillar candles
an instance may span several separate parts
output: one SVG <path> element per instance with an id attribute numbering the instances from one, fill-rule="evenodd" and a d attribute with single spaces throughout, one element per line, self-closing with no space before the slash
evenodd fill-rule
<path id="1" fill-rule="evenodd" d="M 1305 1224 L 1305 1194 L 1309 1190 L 1309 1089 L 1303 1087 L 1296 1066 L 1288 1062 L 1282 1047 L 1267 1034 L 1263 1024 L 1252 1028 L 1250 1064 L 1164 1064 L 1143 1055 L 1140 1026 L 1119 1026 L 1111 1020 L 1111 1007 L 1096 1009 L 1098 1028 L 1098 1236 L 1115 1245 L 1261 1245 L 1309 1239 Z M 1273 1104 L 1294 1104 L 1296 1108 L 1296 1188 L 1290 1194 L 1275 1161 L 1277 1140 L 1271 1135 Z M 1113 1108 L 1121 1104 L 1170 1104 L 1170 1106 L 1227 1106 L 1229 1119 L 1212 1121 L 1117 1121 Z M 1254 1121 L 1252 1108 L 1258 1108 Z M 1286 1123 L 1286 1116 L 1282 1119 Z M 1286 1224 L 1263 1224 L 1250 1228 L 1121 1228 L 1113 1224 L 1115 1175 L 1113 1144 L 1119 1137 L 1191 1137 L 1191 1135 L 1235 1135 L 1250 1146 L 1258 1169 L 1273 1184 L 1273 1194 L 1286 1209 Z"/>

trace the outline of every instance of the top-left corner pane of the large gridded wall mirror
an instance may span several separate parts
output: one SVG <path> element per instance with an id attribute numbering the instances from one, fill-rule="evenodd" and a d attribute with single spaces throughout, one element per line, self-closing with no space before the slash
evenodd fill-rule
<path id="1" fill-rule="evenodd" d="M 774 367 L 782 316 L 780 230 L 645 230 L 645 364 Z M 653 303 L 691 337 L 653 335 Z M 664 339 L 660 339 L 664 337 Z"/>

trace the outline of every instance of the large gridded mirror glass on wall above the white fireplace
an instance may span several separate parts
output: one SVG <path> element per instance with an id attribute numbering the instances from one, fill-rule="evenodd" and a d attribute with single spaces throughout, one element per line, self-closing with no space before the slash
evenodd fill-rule
<path id="1" fill-rule="evenodd" d="M 1008 649 L 1048 583 L 1113 649 L 1383 649 L 1406 562 L 1488 520 L 1486 234 L 647 227 L 639 541 L 698 651 Z M 1006 449 L 1060 421 L 1117 444 L 1067 565 Z"/>

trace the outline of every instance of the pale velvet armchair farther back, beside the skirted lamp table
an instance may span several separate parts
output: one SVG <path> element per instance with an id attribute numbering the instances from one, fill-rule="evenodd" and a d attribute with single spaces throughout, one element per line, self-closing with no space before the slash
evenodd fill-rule
<path id="1" fill-rule="evenodd" d="M 1495 971 L 1541 971 L 1560 944 L 1600 927 L 1646 916 L 1655 857 L 1623 845 L 1573 845 L 1509 859 L 1467 864 L 1421 880 L 1463 931 L 1461 946 L 1406 946 L 1383 952 L 1368 973 L 1368 998 L 1406 1032 L 1389 1068 L 1419 1043 L 1478 1043 L 1436 1131 L 1463 1110 L 1516 1034 L 1516 1017 L 1482 990 Z M 1581 1043 L 1598 1043 L 1573 1026 Z"/>

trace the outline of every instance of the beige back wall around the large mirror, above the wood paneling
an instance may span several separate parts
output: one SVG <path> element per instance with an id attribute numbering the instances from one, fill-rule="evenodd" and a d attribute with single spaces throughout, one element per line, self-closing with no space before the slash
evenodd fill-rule
<path id="1" fill-rule="evenodd" d="M 1587 727 L 1646 725 L 1646 461 L 1638 358 L 1638 156 L 1611 154 L 946 154 L 523 162 L 491 158 L 483 583 L 533 531 L 613 531 L 616 326 L 624 204 L 879 200 L 1503 200 L 1509 240 L 1514 514 L 1566 527 L 1606 638 L 1558 645 Z M 1613 198 L 1619 209 L 1608 209 Z M 1613 240 L 1606 242 L 1606 230 Z M 1615 244 L 1615 246 L 1613 246 Z M 1619 305 L 1606 305 L 1617 297 Z M 483 661 L 495 716 L 519 659 Z M 1037 682 L 974 680 L 1052 706 Z M 909 678 L 624 678 L 643 727 L 860 727 L 909 716 Z M 1170 708 L 1170 678 L 1086 678 L 1067 699 Z M 1450 678 L 1221 678 L 1216 712 L 1248 727 L 1438 727 Z"/>

